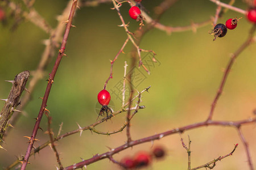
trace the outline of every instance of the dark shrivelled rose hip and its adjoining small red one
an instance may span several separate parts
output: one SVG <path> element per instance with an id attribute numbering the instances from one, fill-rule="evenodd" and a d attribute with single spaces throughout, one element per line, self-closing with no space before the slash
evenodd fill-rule
<path id="1" fill-rule="evenodd" d="M 241 19 L 241 18 L 240 18 Z M 226 20 L 226 24 L 217 24 L 213 28 L 211 34 L 214 35 L 214 40 L 216 40 L 217 37 L 224 37 L 226 35 L 226 32 L 228 32 L 228 29 L 235 29 L 237 27 L 237 22 L 240 20 L 237 18 L 230 18 Z"/>

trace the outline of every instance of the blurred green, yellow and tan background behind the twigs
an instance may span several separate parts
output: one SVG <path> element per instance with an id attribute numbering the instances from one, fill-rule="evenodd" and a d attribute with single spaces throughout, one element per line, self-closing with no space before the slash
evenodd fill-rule
<path id="1" fill-rule="evenodd" d="M 68 1 L 45 0 L 36 1 L 35 9 L 46 18 L 54 28 L 57 24 L 56 16 L 61 14 Z M 162 1 L 161 1 L 162 2 Z M 224 1 L 228 2 L 228 1 Z M 160 1 L 142 1 L 142 5 L 152 15 L 154 7 Z M 246 9 L 246 5 L 240 1 L 234 6 Z M 80 126 L 87 126 L 96 121 L 97 94 L 102 90 L 105 80 L 109 76 L 110 62 L 126 40 L 126 33 L 122 27 L 117 12 L 111 10 L 112 3 L 105 3 L 95 7 L 81 7 L 77 10 L 66 47 L 66 54 L 60 63 L 48 100 L 48 109 L 52 116 L 53 132 L 57 134 L 59 125 L 63 122 L 61 133 L 75 130 Z M 128 15 L 129 5 L 125 3 L 121 8 L 125 22 L 130 22 L 129 29 L 134 32 L 138 23 L 130 19 Z M 216 5 L 210 1 L 178 1 L 160 19 L 160 22 L 173 27 L 185 26 L 191 22 L 203 22 L 214 16 Z M 225 23 L 229 18 L 240 18 L 243 15 L 234 11 L 228 11 L 218 23 Z M 9 31 L 11 19 L 7 23 L 0 24 L 0 98 L 5 99 L 11 88 L 11 84 L 4 80 L 12 80 L 14 76 L 24 70 L 35 70 L 44 45 L 42 41 L 48 39 L 47 33 L 26 21 L 19 25 L 15 31 Z M 64 24 L 63 24 L 64 27 Z M 216 95 L 223 70 L 226 67 L 230 53 L 238 49 L 246 40 L 251 24 L 246 18 L 240 20 L 233 31 L 227 35 L 213 40 L 209 35 L 212 25 L 207 25 L 192 31 L 177 32 L 167 35 L 159 29 L 152 29 L 142 39 L 140 48 L 154 50 L 159 63 L 150 67 L 151 75 L 147 75 L 143 68 L 141 71 L 143 80 L 137 84 L 138 91 L 151 86 L 149 93 L 142 95 L 141 105 L 145 109 L 139 110 L 131 121 L 131 137 L 139 139 L 154 135 L 172 128 L 192 124 L 206 120 L 210 105 Z M 116 90 L 117 84 L 122 81 L 124 62 L 130 65 L 131 44 L 124 49 L 114 63 L 113 79 L 108 83 L 107 90 Z M 226 82 L 224 94 L 214 112 L 214 120 L 242 120 L 253 117 L 256 108 L 256 46 L 250 45 L 241 53 L 232 67 L 232 71 Z M 147 53 L 142 53 L 142 57 Z M 0 167 L 7 167 L 14 162 L 15 156 L 24 155 L 27 149 L 27 139 L 30 136 L 35 120 L 38 116 L 40 104 L 47 86 L 46 79 L 51 72 L 57 57 L 57 50 L 52 62 L 48 65 L 46 74 L 32 93 L 32 99 L 25 111 L 27 116 L 22 116 L 5 140 L 0 150 Z M 130 68 L 127 69 L 130 71 Z M 115 110 L 121 107 L 121 97 L 112 94 L 112 102 Z M 0 103 L 3 107 L 3 102 Z M 125 122 L 126 114 L 122 113 L 112 118 L 112 121 L 104 122 L 96 129 L 101 131 L 113 131 L 120 128 Z M 46 130 L 47 120 L 43 117 L 40 126 Z M 251 159 L 256 162 L 256 130 L 254 125 L 242 127 L 242 131 L 249 143 Z M 161 145 L 167 150 L 166 158 L 156 162 L 155 160 L 146 169 L 187 169 L 187 153 L 181 145 L 180 137 L 188 142 L 187 135 L 192 140 L 192 167 L 228 154 L 234 145 L 239 146 L 233 156 L 218 162 L 214 169 L 249 169 L 245 148 L 234 128 L 209 126 L 185 131 L 183 134 L 175 134 L 154 142 L 154 146 Z M 48 141 L 48 135 L 38 131 L 40 139 L 34 145 Z M 64 167 L 80 162 L 81 159 L 92 158 L 95 154 L 108 151 L 108 147 L 114 148 L 126 142 L 126 132 L 111 136 L 98 135 L 84 131 L 81 135 L 75 134 L 57 142 L 57 150 L 61 153 L 61 162 Z M 107 147 L 106 147 L 107 146 Z M 124 156 L 135 155 L 140 150 L 150 151 L 152 143 L 128 148 L 114 159 L 121 160 Z M 57 162 L 51 148 L 44 148 L 36 156 L 29 160 L 31 164 L 27 169 L 56 169 Z M 254 164 L 255 168 L 255 164 Z M 1 168 L 0 168 L 1 169 Z M 119 169 L 108 159 L 88 165 L 88 169 Z"/>

